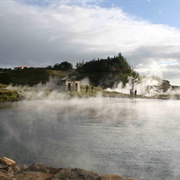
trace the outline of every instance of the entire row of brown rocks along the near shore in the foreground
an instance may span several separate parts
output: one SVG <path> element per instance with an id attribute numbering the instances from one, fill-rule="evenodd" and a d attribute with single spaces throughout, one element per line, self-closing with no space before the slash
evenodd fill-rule
<path id="1" fill-rule="evenodd" d="M 7 157 L 0 158 L 0 180 L 137 180 L 119 175 L 99 175 L 78 168 L 53 168 L 33 163 L 25 166 Z"/>

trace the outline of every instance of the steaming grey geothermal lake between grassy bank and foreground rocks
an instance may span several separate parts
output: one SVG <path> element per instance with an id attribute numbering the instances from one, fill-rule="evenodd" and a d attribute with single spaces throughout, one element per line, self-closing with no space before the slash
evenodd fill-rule
<path id="1" fill-rule="evenodd" d="M 97 97 L 0 104 L 0 156 L 177 180 L 180 101 Z"/>

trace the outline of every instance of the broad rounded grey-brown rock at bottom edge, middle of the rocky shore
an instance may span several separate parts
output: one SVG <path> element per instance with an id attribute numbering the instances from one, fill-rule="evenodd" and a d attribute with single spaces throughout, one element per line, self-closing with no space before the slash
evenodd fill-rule
<path id="1" fill-rule="evenodd" d="M 97 173 L 77 168 L 64 168 L 55 174 L 55 180 L 96 180 L 98 177 Z"/>

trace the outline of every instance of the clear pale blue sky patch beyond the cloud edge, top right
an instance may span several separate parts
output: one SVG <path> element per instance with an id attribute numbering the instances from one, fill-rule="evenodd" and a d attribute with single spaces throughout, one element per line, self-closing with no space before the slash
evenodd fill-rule
<path id="1" fill-rule="evenodd" d="M 167 24 L 180 28 L 180 1 L 177 0 L 127 0 L 115 1 L 125 12 L 155 24 Z"/>

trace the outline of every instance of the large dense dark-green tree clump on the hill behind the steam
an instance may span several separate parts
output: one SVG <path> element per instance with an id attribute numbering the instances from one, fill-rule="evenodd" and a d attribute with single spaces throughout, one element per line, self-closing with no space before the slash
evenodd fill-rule
<path id="1" fill-rule="evenodd" d="M 103 88 L 112 87 L 120 81 L 126 84 L 129 76 L 138 76 L 121 53 L 113 58 L 78 63 L 76 71 L 78 79 L 88 77 L 91 84 Z"/>

